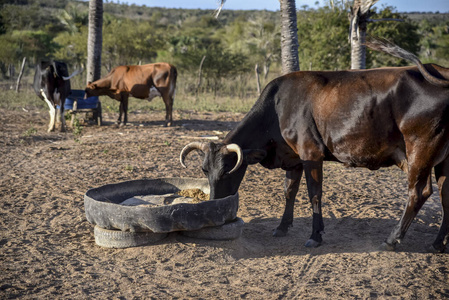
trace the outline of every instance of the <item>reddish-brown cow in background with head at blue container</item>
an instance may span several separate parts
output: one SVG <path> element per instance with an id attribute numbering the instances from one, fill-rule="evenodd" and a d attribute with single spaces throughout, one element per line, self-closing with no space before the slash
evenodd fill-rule
<path id="1" fill-rule="evenodd" d="M 107 95 L 120 101 L 117 124 L 126 125 L 129 96 L 148 101 L 160 96 L 165 103 L 165 125 L 171 126 L 177 74 L 176 68 L 167 63 L 118 66 L 106 77 L 89 83 L 85 90 L 86 97 Z M 122 114 L 123 123 L 121 123 Z"/>

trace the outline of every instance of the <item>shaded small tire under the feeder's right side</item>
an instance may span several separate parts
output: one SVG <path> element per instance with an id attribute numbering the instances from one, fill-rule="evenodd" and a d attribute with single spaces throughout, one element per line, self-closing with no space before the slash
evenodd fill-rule
<path id="1" fill-rule="evenodd" d="M 205 227 L 193 231 L 181 231 L 185 236 L 204 240 L 235 240 L 242 235 L 242 228 L 245 222 L 241 218 L 220 226 Z"/>

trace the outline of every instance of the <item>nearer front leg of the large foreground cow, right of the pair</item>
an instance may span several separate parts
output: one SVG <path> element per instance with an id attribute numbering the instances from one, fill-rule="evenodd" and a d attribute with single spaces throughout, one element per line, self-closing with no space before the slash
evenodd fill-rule
<path id="1" fill-rule="evenodd" d="M 321 212 L 321 196 L 323 194 L 323 161 L 308 161 L 304 163 L 307 190 L 312 204 L 312 235 L 307 240 L 306 247 L 318 247 L 323 241 L 321 234 L 324 231 L 323 215 Z"/>

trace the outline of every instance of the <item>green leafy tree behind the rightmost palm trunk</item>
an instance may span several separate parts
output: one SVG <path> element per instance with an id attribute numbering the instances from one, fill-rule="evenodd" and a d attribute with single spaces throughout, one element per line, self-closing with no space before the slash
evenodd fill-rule
<path id="1" fill-rule="evenodd" d="M 351 67 L 351 46 L 348 42 L 349 22 L 347 8 L 325 6 L 317 10 L 298 13 L 299 61 L 303 70 L 342 70 Z M 400 19 L 368 24 L 367 33 L 394 41 L 413 53 L 419 52 L 418 26 L 407 16 L 384 7 L 371 19 Z M 381 66 L 403 66 L 404 60 L 379 52 L 367 51 L 367 68 Z"/>

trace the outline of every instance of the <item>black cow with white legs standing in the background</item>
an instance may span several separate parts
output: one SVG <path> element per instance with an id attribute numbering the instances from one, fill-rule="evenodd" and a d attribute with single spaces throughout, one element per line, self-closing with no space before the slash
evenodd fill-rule
<path id="1" fill-rule="evenodd" d="M 56 115 L 58 115 L 57 121 L 61 123 L 61 132 L 65 131 L 64 102 L 70 95 L 70 78 L 80 72 L 77 70 L 69 76 L 67 65 L 60 61 L 42 61 L 37 64 L 33 88 L 37 96 L 47 103 L 50 110 L 48 132 L 55 130 Z"/>

